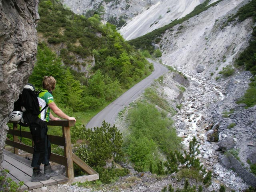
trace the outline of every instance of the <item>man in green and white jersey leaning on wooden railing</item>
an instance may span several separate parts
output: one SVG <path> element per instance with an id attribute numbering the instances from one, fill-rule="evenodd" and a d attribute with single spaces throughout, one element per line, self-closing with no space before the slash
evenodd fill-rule
<path id="1" fill-rule="evenodd" d="M 58 171 L 52 170 L 49 160 L 51 154 L 51 144 L 48 139 L 47 122 L 51 120 L 60 120 L 64 118 L 67 120 L 75 120 L 76 118 L 66 115 L 54 103 L 52 91 L 55 89 L 56 80 L 52 76 L 44 76 L 42 83 L 42 92 L 38 95 L 38 102 L 40 110 L 46 105 L 47 107 L 38 115 L 38 120 L 35 124 L 30 126 L 30 132 L 34 141 L 34 153 L 31 166 L 33 167 L 32 182 L 48 180 L 50 176 L 58 175 Z M 60 118 L 54 117 L 52 111 Z M 44 174 L 40 172 L 40 165 L 44 164 Z"/>

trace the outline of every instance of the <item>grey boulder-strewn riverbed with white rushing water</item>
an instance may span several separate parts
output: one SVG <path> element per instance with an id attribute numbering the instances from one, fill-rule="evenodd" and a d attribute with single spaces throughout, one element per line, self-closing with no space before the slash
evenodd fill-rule
<path id="1" fill-rule="evenodd" d="M 235 191 L 248 187 L 240 176 L 221 164 L 225 151 L 234 148 L 244 168 L 247 160 L 255 163 L 255 112 L 256 108 L 244 109 L 236 100 L 244 95 L 251 74 L 241 72 L 229 79 L 217 82 L 200 75 L 190 77 L 190 86 L 182 99 L 183 108 L 175 116 L 179 136 L 184 145 L 196 136 L 200 140 L 200 155 L 204 165 L 213 172 L 213 183 L 209 187 L 216 190 L 220 184 Z M 234 125 L 230 127 L 229 125 Z M 216 132 L 215 137 L 211 137 Z M 246 168 L 247 167 L 247 168 Z"/>

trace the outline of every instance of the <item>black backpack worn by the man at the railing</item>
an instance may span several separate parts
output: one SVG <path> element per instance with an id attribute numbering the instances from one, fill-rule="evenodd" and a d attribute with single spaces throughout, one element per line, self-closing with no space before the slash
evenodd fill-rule
<path id="1" fill-rule="evenodd" d="M 14 102 L 14 110 L 23 112 L 22 119 L 18 124 L 24 127 L 30 126 L 38 120 L 38 115 L 47 107 L 40 111 L 38 103 L 38 94 L 41 90 L 36 90 L 34 85 L 26 84 L 18 100 Z"/>

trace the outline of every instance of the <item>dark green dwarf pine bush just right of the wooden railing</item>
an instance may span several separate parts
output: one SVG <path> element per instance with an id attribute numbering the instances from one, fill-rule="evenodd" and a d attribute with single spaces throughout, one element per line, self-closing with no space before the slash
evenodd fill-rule
<path id="1" fill-rule="evenodd" d="M 116 126 L 111 127 L 103 121 L 101 127 L 94 130 L 83 127 L 78 129 L 78 132 L 85 143 L 76 149 L 75 154 L 91 167 L 105 166 L 106 161 L 110 159 L 116 162 L 122 160 L 122 133 Z"/>

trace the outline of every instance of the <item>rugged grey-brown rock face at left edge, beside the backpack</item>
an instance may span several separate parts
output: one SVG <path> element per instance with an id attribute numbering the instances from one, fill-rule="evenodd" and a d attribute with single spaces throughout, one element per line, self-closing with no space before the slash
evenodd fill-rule
<path id="1" fill-rule="evenodd" d="M 8 114 L 35 63 L 38 19 L 38 0 L 0 0 L 0 163 Z"/>

